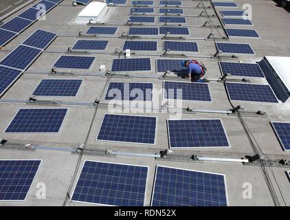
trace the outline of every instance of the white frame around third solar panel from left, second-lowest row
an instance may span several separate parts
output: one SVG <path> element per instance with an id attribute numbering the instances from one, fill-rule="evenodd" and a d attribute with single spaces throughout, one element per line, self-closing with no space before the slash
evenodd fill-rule
<path id="1" fill-rule="evenodd" d="M 166 126 L 167 126 L 167 133 L 168 133 L 168 143 L 169 143 L 169 148 L 172 148 L 172 149 L 203 149 L 203 148 L 230 148 L 231 147 L 231 144 L 230 144 L 230 141 L 229 141 L 229 138 L 227 137 L 227 133 L 225 132 L 225 126 L 223 126 L 223 132 L 225 133 L 225 137 L 227 137 L 227 143 L 229 144 L 229 146 L 186 146 L 186 147 L 178 147 L 178 146 L 174 146 L 174 147 L 171 147 L 170 146 L 170 132 L 169 132 L 169 124 L 168 124 L 168 121 L 170 120 L 177 120 L 177 121 L 180 121 L 180 120 L 220 120 L 221 122 L 221 126 L 223 126 L 223 120 L 221 120 L 221 118 L 185 118 L 185 119 L 167 119 L 166 120 Z"/>

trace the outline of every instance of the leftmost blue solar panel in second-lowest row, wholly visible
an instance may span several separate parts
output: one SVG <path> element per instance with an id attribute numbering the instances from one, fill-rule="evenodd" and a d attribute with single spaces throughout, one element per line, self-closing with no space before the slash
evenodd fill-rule
<path id="1" fill-rule="evenodd" d="M 67 109 L 19 109 L 5 133 L 58 133 Z"/>

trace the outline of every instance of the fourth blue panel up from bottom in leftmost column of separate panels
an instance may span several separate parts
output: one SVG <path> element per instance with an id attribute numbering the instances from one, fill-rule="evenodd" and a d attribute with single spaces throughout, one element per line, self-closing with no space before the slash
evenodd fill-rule
<path id="1" fill-rule="evenodd" d="M 89 69 L 93 60 L 92 56 L 60 56 L 58 61 L 54 63 L 53 67 L 56 68 L 69 68 L 69 69 Z"/>

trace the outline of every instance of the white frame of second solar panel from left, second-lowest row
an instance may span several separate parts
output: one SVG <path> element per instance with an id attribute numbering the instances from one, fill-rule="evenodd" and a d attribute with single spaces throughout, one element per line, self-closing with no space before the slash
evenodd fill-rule
<path id="1" fill-rule="evenodd" d="M 121 116 L 131 116 L 131 117 L 134 117 L 134 116 L 137 116 L 137 117 L 143 117 L 143 118 L 155 118 L 155 133 L 154 133 L 154 143 L 146 143 L 146 142 L 126 142 L 126 141 L 119 141 L 119 140 L 102 140 L 102 139 L 98 139 L 99 135 L 100 135 L 100 131 L 102 129 L 102 124 L 104 122 L 104 118 L 106 117 L 106 115 L 121 115 Z M 105 113 L 104 114 L 104 117 L 102 118 L 102 123 L 99 127 L 99 130 L 98 130 L 98 135 L 96 137 L 96 141 L 100 141 L 100 142 L 115 142 L 115 143 L 126 143 L 126 144 L 146 144 L 146 145 L 150 145 L 150 146 L 153 146 L 153 145 L 156 145 L 156 139 L 157 139 L 157 126 L 158 126 L 158 122 L 157 122 L 157 116 L 145 116 L 145 115 L 129 115 L 129 114 L 126 114 L 126 115 L 122 115 L 122 114 L 113 114 L 113 113 Z M 131 137 L 132 138 L 132 137 Z"/>

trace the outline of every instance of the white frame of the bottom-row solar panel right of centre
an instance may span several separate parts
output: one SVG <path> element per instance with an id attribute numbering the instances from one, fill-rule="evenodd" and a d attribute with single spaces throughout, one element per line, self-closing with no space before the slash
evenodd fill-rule
<path id="1" fill-rule="evenodd" d="M 226 206 L 229 206 L 229 199 L 228 199 L 228 195 L 227 195 L 227 181 L 226 181 L 226 178 L 225 178 L 224 174 L 221 174 L 221 173 L 210 173 L 210 172 L 205 172 L 205 171 L 200 171 L 200 170 L 190 170 L 190 169 L 185 169 L 185 168 L 177 168 L 177 167 L 172 167 L 172 166 L 161 166 L 161 165 L 156 165 L 155 175 L 154 175 L 154 182 L 153 182 L 152 196 L 151 196 L 151 200 L 150 200 L 150 206 L 153 206 L 158 167 L 170 168 L 170 169 L 175 169 L 175 170 L 190 171 L 190 172 L 194 172 L 194 173 L 203 173 L 203 174 L 220 175 L 220 176 L 222 176 L 223 177 L 223 184 L 224 184 L 224 187 L 225 187 Z M 197 183 L 197 186 L 199 186 L 198 183 Z M 196 199 L 198 199 L 198 198 L 196 198 Z M 162 205 L 162 206 L 164 206 L 164 205 Z M 170 204 L 170 206 L 172 206 L 172 205 Z M 176 206 L 176 204 L 174 206 Z"/>

